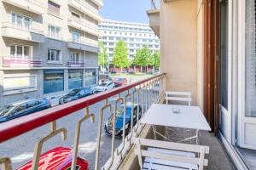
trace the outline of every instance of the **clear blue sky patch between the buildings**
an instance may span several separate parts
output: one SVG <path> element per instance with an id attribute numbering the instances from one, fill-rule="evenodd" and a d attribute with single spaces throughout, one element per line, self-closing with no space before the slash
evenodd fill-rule
<path id="1" fill-rule="evenodd" d="M 103 0 L 100 9 L 103 18 L 148 24 L 146 10 L 150 8 L 150 0 Z"/>

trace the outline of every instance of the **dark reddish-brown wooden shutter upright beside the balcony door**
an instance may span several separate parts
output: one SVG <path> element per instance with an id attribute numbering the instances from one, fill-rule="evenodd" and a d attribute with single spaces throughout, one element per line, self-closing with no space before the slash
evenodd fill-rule
<path id="1" fill-rule="evenodd" d="M 204 3 L 204 113 L 218 134 L 218 1 Z"/>

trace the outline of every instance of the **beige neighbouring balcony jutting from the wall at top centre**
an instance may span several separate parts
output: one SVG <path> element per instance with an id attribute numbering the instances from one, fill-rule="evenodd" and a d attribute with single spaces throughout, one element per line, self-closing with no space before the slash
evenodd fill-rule
<path id="1" fill-rule="evenodd" d="M 149 26 L 154 33 L 160 37 L 160 1 L 151 0 L 152 9 L 147 11 L 149 17 Z"/>

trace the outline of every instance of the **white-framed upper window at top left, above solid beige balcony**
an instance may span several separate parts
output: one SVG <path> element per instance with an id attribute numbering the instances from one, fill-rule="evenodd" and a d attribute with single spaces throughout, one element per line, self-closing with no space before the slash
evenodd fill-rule
<path id="1" fill-rule="evenodd" d="M 20 14 L 12 14 L 12 25 L 22 30 L 29 31 L 32 28 L 32 20 Z"/>

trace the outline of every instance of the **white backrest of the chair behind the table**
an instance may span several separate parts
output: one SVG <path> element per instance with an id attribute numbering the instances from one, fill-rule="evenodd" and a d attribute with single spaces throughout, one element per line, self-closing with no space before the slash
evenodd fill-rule
<path id="1" fill-rule="evenodd" d="M 168 101 L 183 101 L 191 105 L 191 92 L 166 91 L 166 105 L 168 105 Z"/>

